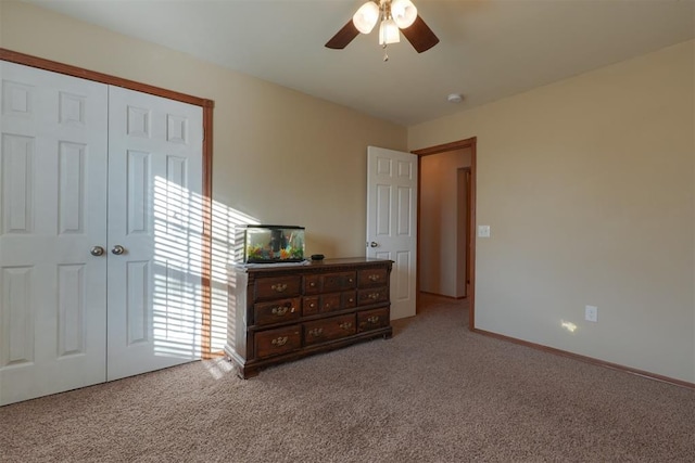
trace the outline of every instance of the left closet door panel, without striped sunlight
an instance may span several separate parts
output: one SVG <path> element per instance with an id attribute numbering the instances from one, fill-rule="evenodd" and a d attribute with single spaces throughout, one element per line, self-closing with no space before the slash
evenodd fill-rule
<path id="1" fill-rule="evenodd" d="M 105 377 L 103 85 L 0 62 L 0 406 Z"/>

